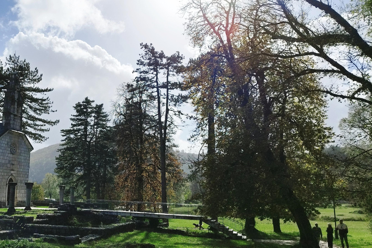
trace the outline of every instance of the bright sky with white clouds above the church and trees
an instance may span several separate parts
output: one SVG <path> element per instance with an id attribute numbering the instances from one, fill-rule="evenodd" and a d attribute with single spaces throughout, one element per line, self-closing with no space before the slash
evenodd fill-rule
<path id="1" fill-rule="evenodd" d="M 73 106 L 86 96 L 110 111 L 116 89 L 132 80 L 140 43 L 152 43 L 166 55 L 179 51 L 185 63 L 195 57 L 178 0 L 1 0 L 0 60 L 16 53 L 43 74 L 39 86 L 53 88 L 47 96 L 59 119 L 34 150 L 61 142 L 60 130 L 70 127 Z M 337 130 L 347 116 L 345 105 L 332 101 L 327 124 Z M 187 141 L 192 126 L 177 131 L 179 150 L 198 152 Z"/>

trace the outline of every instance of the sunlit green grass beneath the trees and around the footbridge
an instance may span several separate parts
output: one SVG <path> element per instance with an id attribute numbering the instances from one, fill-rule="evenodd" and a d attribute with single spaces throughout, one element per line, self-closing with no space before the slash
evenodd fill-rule
<path id="1" fill-rule="evenodd" d="M 333 218 L 332 208 L 320 208 L 320 215 L 314 220 L 310 220 L 311 225 L 315 222 L 322 228 L 324 238 L 326 240 L 325 229 L 327 223 L 332 223 L 334 228 L 334 222 L 331 221 Z M 0 209 L 0 212 L 6 210 Z M 18 212 L 18 211 L 17 211 Z M 27 213 L 27 215 L 36 215 L 36 213 L 42 212 L 42 210 L 33 210 Z M 23 211 L 19 211 L 19 214 L 24 214 Z M 343 218 L 344 223 L 349 228 L 348 239 L 350 247 L 352 248 L 371 248 L 372 247 L 372 233 L 368 229 L 368 221 L 366 216 L 360 213 L 360 209 L 353 207 L 338 207 L 336 209 L 337 219 Z M 256 220 L 256 228 L 265 233 L 264 237 L 267 239 L 280 239 L 280 240 L 296 240 L 298 239 L 299 232 L 297 226 L 293 222 L 283 223 L 281 222 L 281 234 L 274 233 L 272 231 L 272 223 L 270 220 L 260 221 Z M 149 229 L 136 230 L 129 233 L 121 233 L 113 235 L 107 239 L 91 242 L 88 244 L 80 244 L 74 246 L 74 248 L 125 248 L 128 243 L 135 244 L 154 244 L 156 248 L 191 248 L 191 247 L 202 247 L 202 248 L 290 248 L 288 245 L 277 245 L 277 244 L 265 244 L 255 243 L 253 241 L 244 240 L 229 240 L 223 238 L 221 235 L 216 236 L 212 232 L 208 231 L 208 225 L 204 223 L 204 230 L 194 229 L 193 223 L 195 220 L 181 220 L 181 219 L 170 219 L 170 230 L 153 232 Z M 71 248 L 72 246 L 64 246 L 61 244 L 47 244 L 40 243 L 37 241 L 33 243 L 35 248 Z M 340 240 L 334 241 L 335 245 L 341 246 Z M 0 242 L 1 247 L 1 242 Z M 132 247 L 131 247 L 132 248 Z M 133 247 L 134 248 L 134 247 Z"/>

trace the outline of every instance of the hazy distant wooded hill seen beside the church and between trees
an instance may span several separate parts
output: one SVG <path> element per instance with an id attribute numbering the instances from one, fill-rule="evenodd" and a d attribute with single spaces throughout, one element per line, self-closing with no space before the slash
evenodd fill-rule
<path id="1" fill-rule="evenodd" d="M 60 148 L 60 144 L 54 144 L 31 153 L 29 176 L 30 182 L 41 183 L 46 173 L 54 173 L 54 168 L 56 168 L 55 157 L 59 155 L 57 150 Z M 192 159 L 195 160 L 198 155 L 184 152 L 179 152 L 179 155 L 182 163 L 182 169 L 186 174 L 190 173 L 188 165 L 190 164 L 190 161 L 192 161 Z"/>

